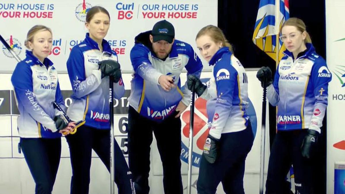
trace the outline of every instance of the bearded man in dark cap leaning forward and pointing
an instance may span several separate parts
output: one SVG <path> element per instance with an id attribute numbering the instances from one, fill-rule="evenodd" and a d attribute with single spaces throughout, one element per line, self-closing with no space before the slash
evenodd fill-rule
<path id="1" fill-rule="evenodd" d="M 134 77 L 128 98 L 128 161 L 137 194 L 148 194 L 152 132 L 163 165 L 165 193 L 183 194 L 181 181 L 180 114 L 190 103 L 190 90 L 181 89 L 180 74 L 200 77 L 203 65 L 193 48 L 175 39 L 166 20 L 135 37 L 130 52 Z"/>

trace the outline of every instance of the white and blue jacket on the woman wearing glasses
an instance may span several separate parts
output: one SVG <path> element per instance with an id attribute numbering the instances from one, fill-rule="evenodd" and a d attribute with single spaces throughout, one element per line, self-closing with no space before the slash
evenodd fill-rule
<path id="1" fill-rule="evenodd" d="M 296 60 L 291 52 L 284 51 L 274 82 L 267 87 L 269 102 L 278 106 L 278 130 L 308 128 L 321 132 L 332 74 L 313 45 L 306 46 Z"/>

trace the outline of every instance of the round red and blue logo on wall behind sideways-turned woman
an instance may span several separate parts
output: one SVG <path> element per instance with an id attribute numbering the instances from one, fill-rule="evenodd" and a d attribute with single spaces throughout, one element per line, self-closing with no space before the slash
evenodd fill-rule
<path id="1" fill-rule="evenodd" d="M 201 79 L 203 83 L 206 83 L 209 79 Z M 183 86 L 185 87 L 185 86 Z M 181 89 L 183 89 L 183 87 Z M 254 137 L 257 130 L 257 120 L 256 113 L 252 102 L 248 99 L 249 105 L 247 108 L 247 115 L 250 117 L 250 122 L 252 124 L 252 130 Z M 194 125 L 193 125 L 193 155 L 192 155 L 192 165 L 199 167 L 201 154 L 203 153 L 204 144 L 208 136 L 208 117 L 206 111 L 207 101 L 203 98 L 197 98 L 195 100 L 195 109 L 194 109 Z M 180 159 L 185 163 L 188 163 L 188 141 L 189 141 L 189 119 L 190 119 L 190 110 L 189 107 L 182 114 L 182 142 L 181 142 L 181 155 Z"/>

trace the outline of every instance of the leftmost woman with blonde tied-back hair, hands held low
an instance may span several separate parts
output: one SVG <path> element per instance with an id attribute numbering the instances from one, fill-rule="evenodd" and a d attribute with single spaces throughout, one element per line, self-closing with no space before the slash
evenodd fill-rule
<path id="1" fill-rule="evenodd" d="M 68 123 L 57 103 L 65 109 L 58 72 L 47 58 L 52 47 L 51 29 L 33 26 L 25 41 L 26 58 L 14 69 L 11 82 L 18 103 L 18 133 L 36 194 L 53 190 L 61 157 L 61 135 L 68 135 L 75 123 Z"/>

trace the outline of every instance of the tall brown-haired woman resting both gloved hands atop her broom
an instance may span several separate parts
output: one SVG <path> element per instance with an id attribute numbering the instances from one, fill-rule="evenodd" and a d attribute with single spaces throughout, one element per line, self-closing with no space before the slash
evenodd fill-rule
<path id="1" fill-rule="evenodd" d="M 108 11 L 99 6 L 86 14 L 86 38 L 72 48 L 67 70 L 73 89 L 73 103 L 67 115 L 72 120 L 85 120 L 75 134 L 67 137 L 72 180 L 71 194 L 89 193 L 92 149 L 110 171 L 109 77 L 114 79 L 114 97 L 124 94 L 118 57 L 104 40 L 110 26 Z M 114 139 L 115 183 L 120 194 L 133 191 L 130 172 L 121 149 Z"/>

